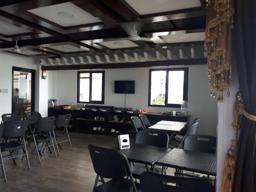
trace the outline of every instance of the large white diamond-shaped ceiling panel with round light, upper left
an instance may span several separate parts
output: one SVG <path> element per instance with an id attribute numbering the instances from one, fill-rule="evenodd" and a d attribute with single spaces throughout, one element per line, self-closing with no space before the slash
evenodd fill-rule
<path id="1" fill-rule="evenodd" d="M 63 27 L 101 22 L 98 18 L 70 2 L 28 11 Z"/>

